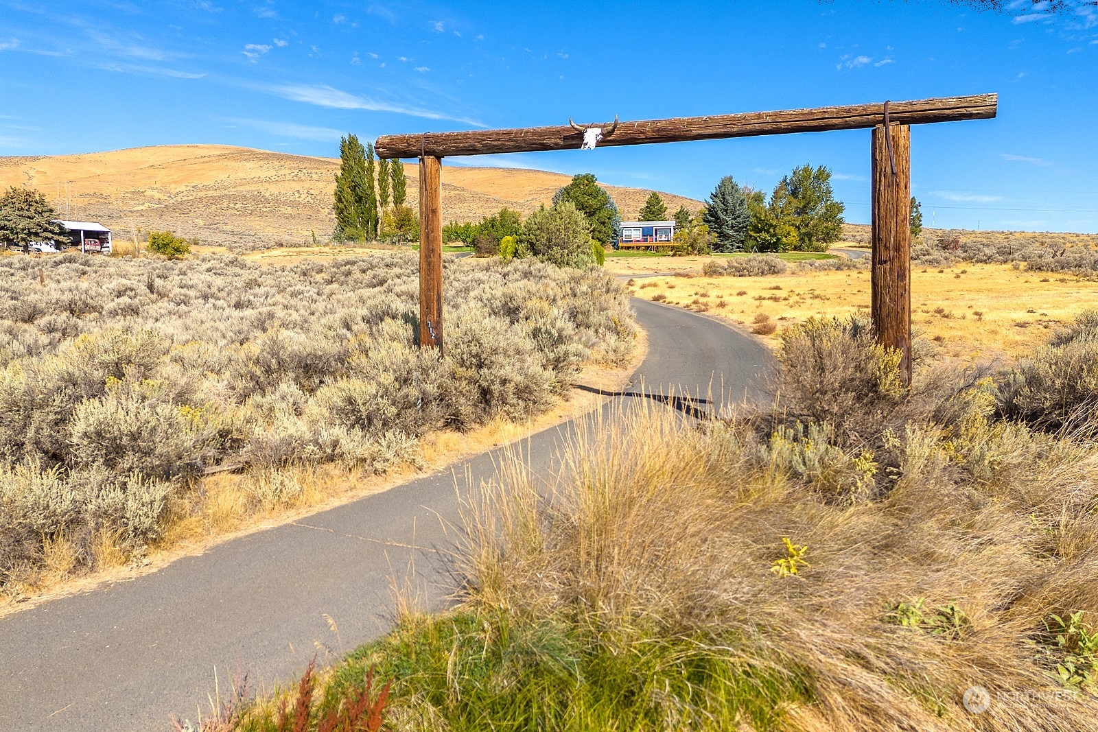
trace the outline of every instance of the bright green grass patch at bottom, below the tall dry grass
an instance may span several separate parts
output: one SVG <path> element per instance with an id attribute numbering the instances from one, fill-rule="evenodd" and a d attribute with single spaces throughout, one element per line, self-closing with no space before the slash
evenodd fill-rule
<path id="1" fill-rule="evenodd" d="M 352 697 L 370 668 L 376 683 L 394 680 L 386 719 L 403 730 L 733 730 L 738 720 L 773 730 L 810 701 L 805 674 L 746 661 L 735 640 L 585 622 L 507 611 L 407 618 L 325 677 L 318 709 Z M 237 729 L 276 732 L 274 706 Z"/>

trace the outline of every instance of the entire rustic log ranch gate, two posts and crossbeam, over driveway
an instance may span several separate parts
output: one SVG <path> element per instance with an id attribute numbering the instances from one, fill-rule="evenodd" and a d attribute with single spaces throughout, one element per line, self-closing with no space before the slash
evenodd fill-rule
<path id="1" fill-rule="evenodd" d="M 903 353 L 911 378 L 911 137 L 910 125 L 995 116 L 997 94 L 921 99 L 780 112 L 617 122 L 600 127 L 598 145 L 646 145 L 698 139 L 783 135 L 829 129 L 873 129 L 872 275 L 873 327 L 877 341 Z M 581 147 L 584 128 L 520 127 L 418 135 L 384 135 L 379 158 L 419 158 L 419 344 L 442 347 L 441 160 L 447 155 L 497 155 Z"/>

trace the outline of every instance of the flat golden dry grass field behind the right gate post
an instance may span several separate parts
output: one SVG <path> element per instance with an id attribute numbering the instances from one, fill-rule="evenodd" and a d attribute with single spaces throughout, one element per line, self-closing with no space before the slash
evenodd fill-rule
<path id="1" fill-rule="evenodd" d="M 1098 282 L 1016 270 L 1010 264 L 915 266 L 911 324 L 925 349 L 962 359 L 1012 356 L 1047 341 L 1056 325 L 1093 307 Z M 707 313 L 776 346 L 784 328 L 809 317 L 869 314 L 867 269 L 765 277 L 658 277 L 632 280 L 646 300 Z"/>

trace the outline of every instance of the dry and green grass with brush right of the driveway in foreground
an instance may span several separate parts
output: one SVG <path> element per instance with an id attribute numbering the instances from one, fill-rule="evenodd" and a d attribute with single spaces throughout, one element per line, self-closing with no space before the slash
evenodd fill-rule
<path id="1" fill-rule="evenodd" d="M 549 469 L 512 451 L 467 497 L 456 607 L 326 698 L 377 669 L 395 730 L 1095 729 L 1098 446 L 1010 417 L 1017 372 L 899 390 L 858 323 L 789 329 L 781 364 L 770 409 L 645 402 Z"/>

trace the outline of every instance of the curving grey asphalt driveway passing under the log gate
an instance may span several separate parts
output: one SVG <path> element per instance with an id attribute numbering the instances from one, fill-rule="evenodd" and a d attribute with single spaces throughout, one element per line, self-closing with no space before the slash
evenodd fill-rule
<path id="1" fill-rule="evenodd" d="M 615 398 L 713 392 L 719 406 L 759 396 L 764 347 L 715 319 L 632 302 L 649 352 L 636 383 Z M 530 438 L 537 471 L 570 429 Z M 445 556 L 458 521 L 455 488 L 491 477 L 497 457 L 0 620 L 0 730 L 147 731 L 168 729 L 171 714 L 193 720 L 209 709 L 215 671 L 223 690 L 236 669 L 270 688 L 299 674 L 316 643 L 349 650 L 385 632 L 391 578 L 413 562 L 428 601 L 444 605 L 453 587 Z"/>

